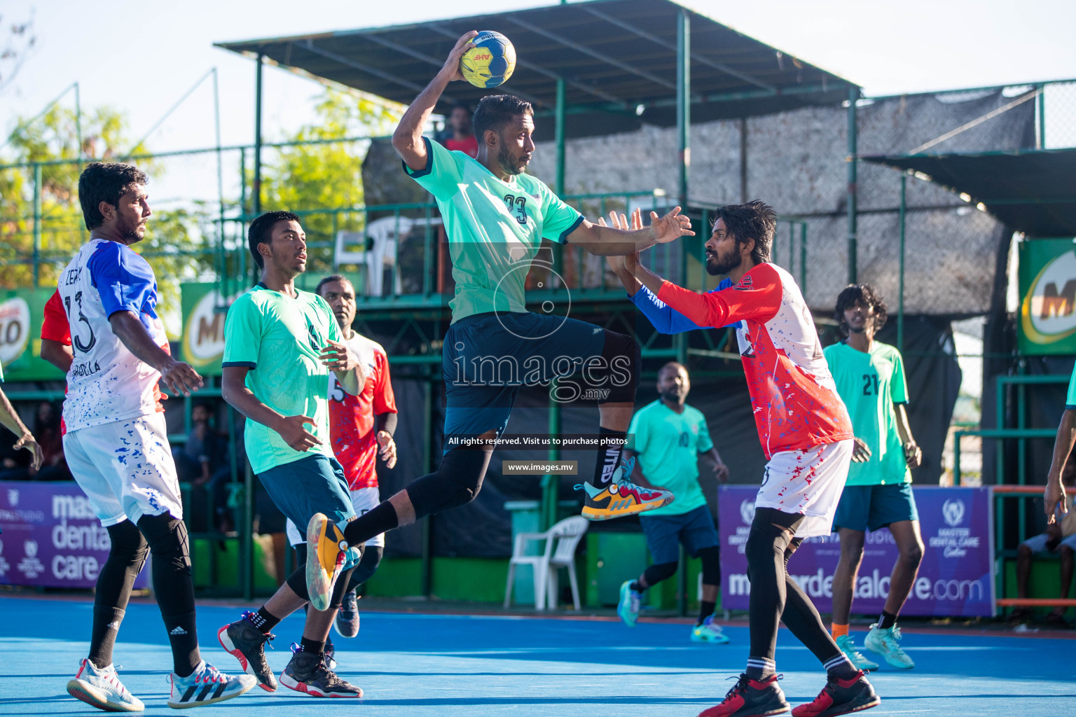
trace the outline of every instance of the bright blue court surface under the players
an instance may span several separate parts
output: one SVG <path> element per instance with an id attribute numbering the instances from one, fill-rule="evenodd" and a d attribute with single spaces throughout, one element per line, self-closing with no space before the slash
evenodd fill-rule
<path id="1" fill-rule="evenodd" d="M 359 603 L 362 606 L 362 602 Z M 102 714 L 69 697 L 67 680 L 85 657 L 88 600 L 0 599 L 0 714 Z M 203 657 L 225 671 L 238 662 L 216 643 L 216 629 L 240 610 L 198 608 Z M 269 663 L 279 673 L 301 632 L 301 615 L 274 632 Z M 980 634 L 971 630 L 905 632 L 917 668 L 884 665 L 870 678 L 882 715 L 1076 715 L 1076 641 Z M 250 717 L 390 715 L 646 715 L 692 717 L 717 703 L 747 659 L 748 630 L 727 627 L 732 644 L 689 642 L 690 626 L 608 619 L 419 615 L 367 612 L 355 640 L 336 639 L 338 673 L 363 687 L 363 700 L 314 699 L 280 688 L 197 712 Z M 863 632 L 854 632 L 862 644 Z M 335 633 L 334 633 L 335 635 Z M 156 605 L 131 604 L 115 660 L 144 714 L 166 705 L 171 669 Z M 824 677 L 818 661 L 782 628 L 781 686 L 795 705 L 809 702 Z M 342 712 L 341 712 L 342 711 Z"/>

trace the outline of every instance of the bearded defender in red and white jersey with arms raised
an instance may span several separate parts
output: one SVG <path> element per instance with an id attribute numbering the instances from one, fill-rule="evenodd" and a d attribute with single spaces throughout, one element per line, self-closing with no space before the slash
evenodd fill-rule
<path id="1" fill-rule="evenodd" d="M 633 217 L 641 225 L 641 216 Z M 725 699 L 700 717 L 788 709 L 774 655 L 780 621 L 826 669 L 818 698 L 794 717 L 866 709 L 880 700 L 833 641 L 818 611 L 788 573 L 804 537 L 826 535 L 852 457 L 852 425 L 822 354 L 818 331 L 792 275 L 769 263 L 777 213 L 753 201 L 717 211 L 706 269 L 730 282 L 698 295 L 662 279 L 637 255 L 610 263 L 659 330 L 735 326 L 759 439 L 769 462 L 755 499 L 746 554 L 751 579 L 751 650 Z M 626 225 L 624 217 L 615 219 Z"/>

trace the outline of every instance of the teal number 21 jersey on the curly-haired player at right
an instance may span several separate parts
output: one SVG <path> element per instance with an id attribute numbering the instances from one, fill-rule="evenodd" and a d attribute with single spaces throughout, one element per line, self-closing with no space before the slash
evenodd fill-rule
<path id="1" fill-rule="evenodd" d="M 870 448 L 870 459 L 852 463 L 848 486 L 910 483 L 904 446 L 896 431 L 894 403 L 908 402 L 904 359 L 896 347 L 875 341 L 864 354 L 841 342 L 826 346 L 826 363 L 837 392 L 848 406 L 855 438 Z"/>

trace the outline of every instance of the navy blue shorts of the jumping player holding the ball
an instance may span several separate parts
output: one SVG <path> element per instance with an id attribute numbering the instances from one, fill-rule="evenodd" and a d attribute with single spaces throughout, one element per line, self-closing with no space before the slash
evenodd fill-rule
<path id="1" fill-rule="evenodd" d="M 523 386 L 570 376 L 604 346 L 600 326 L 530 312 L 475 314 L 450 326 L 441 350 L 444 453 L 458 447 L 453 436 L 502 434 Z M 558 382 L 557 398 L 574 400 L 581 385 Z"/>

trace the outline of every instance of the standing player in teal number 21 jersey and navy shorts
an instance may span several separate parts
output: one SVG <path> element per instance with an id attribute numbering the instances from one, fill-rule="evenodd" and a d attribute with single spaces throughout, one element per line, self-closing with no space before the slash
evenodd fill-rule
<path id="1" fill-rule="evenodd" d="M 923 558 L 908 470 L 919 467 L 923 454 L 908 427 L 904 359 L 895 346 L 875 341 L 875 333 L 886 324 L 886 302 L 874 287 L 854 284 L 845 288 L 837 297 L 835 317 L 846 339 L 825 347 L 825 360 L 852 417 L 856 445 L 833 518 L 833 529 L 840 535 L 840 560 L 833 574 L 833 636 L 855 666 L 878 669 L 876 662 L 856 651 L 848 634 L 848 615 L 863 560 L 865 531 L 889 528 L 898 557 L 886 606 L 864 644 L 890 665 L 910 670 L 916 663 L 901 649 L 896 616 L 911 592 Z"/>

